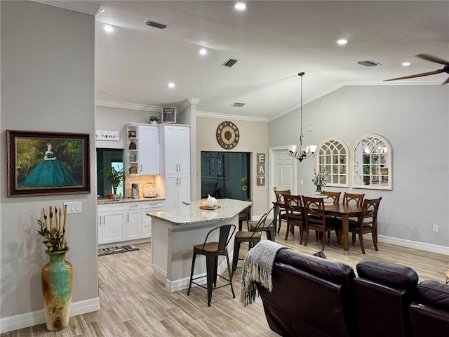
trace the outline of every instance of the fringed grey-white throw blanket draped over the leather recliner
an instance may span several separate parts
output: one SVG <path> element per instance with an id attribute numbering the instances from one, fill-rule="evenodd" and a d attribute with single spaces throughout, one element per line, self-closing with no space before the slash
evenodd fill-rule
<path id="1" fill-rule="evenodd" d="M 290 248 L 276 244 L 276 242 L 263 240 L 246 254 L 240 289 L 240 302 L 243 305 L 250 305 L 254 302 L 257 293 L 256 282 L 262 284 L 269 292 L 273 290 L 272 270 L 274 258 L 279 249 Z"/>

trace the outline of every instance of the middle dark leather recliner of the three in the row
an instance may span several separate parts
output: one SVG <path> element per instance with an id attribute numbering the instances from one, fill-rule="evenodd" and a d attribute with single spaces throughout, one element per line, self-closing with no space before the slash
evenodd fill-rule
<path id="1" fill-rule="evenodd" d="M 415 270 L 366 258 L 354 279 L 358 319 L 363 337 L 410 337 L 410 304 L 418 275 Z"/>

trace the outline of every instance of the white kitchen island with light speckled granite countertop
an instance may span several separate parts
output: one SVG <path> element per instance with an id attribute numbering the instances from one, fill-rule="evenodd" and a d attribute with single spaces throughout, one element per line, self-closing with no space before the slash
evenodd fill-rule
<path id="1" fill-rule="evenodd" d="M 220 225 L 238 227 L 239 213 L 246 209 L 248 201 L 218 199 L 219 209 L 200 209 L 201 200 L 185 204 L 173 211 L 147 213 L 152 217 L 152 267 L 156 279 L 170 292 L 187 289 L 192 268 L 192 252 L 195 244 L 202 244 L 210 230 Z M 218 234 L 218 231 L 217 231 Z M 211 237 L 215 241 L 217 237 Z M 232 261 L 234 238 L 228 246 Z M 227 270 L 226 259 L 218 260 L 218 273 Z M 227 271 L 226 271 L 227 272 Z M 204 256 L 196 258 L 194 277 L 206 275 Z M 204 278 L 206 283 L 206 277 Z"/>

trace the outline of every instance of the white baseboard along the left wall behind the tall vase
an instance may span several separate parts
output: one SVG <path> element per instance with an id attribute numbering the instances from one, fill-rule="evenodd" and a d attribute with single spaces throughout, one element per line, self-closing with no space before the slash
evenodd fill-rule
<path id="1" fill-rule="evenodd" d="M 100 298 L 80 300 L 70 305 L 70 317 L 87 314 L 88 312 L 97 310 L 100 310 Z M 2 317 L 0 319 L 0 333 L 23 329 L 45 322 L 45 312 L 43 309 L 26 312 L 25 314 L 20 315 Z"/>

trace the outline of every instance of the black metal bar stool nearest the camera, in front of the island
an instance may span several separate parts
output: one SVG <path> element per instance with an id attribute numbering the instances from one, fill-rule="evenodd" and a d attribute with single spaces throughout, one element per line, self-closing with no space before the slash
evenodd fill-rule
<path id="1" fill-rule="evenodd" d="M 208 237 L 211 233 L 219 230 L 220 233 L 218 235 L 218 242 L 208 242 Z M 206 235 L 206 239 L 203 244 L 196 244 L 194 246 L 194 255 L 192 256 L 192 272 L 190 272 L 190 283 L 189 290 L 187 291 L 187 296 L 190 294 L 190 287 L 193 284 L 197 286 L 201 286 L 201 288 L 207 289 L 208 291 L 208 306 L 210 307 L 210 300 L 212 300 L 212 291 L 215 289 L 219 289 L 222 286 L 231 286 L 232 297 L 236 298 L 234 293 L 234 288 L 232 287 L 232 272 L 231 265 L 229 265 L 229 256 L 227 253 L 227 244 L 232 238 L 232 235 L 236 231 L 235 225 L 222 225 L 220 227 L 216 227 L 213 230 L 210 230 Z M 230 233 L 230 234 L 229 234 Z M 195 279 L 200 279 L 204 276 L 193 277 L 194 276 L 194 267 L 196 254 L 201 254 L 206 256 L 206 277 L 207 277 L 207 287 L 202 284 L 194 282 Z M 229 279 L 226 277 L 222 277 L 221 275 L 217 275 L 217 267 L 218 267 L 218 256 L 226 256 L 227 261 L 227 272 L 229 275 Z M 225 279 L 227 284 L 223 284 L 222 286 L 217 287 L 217 277 L 221 277 Z"/>

